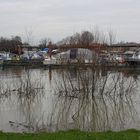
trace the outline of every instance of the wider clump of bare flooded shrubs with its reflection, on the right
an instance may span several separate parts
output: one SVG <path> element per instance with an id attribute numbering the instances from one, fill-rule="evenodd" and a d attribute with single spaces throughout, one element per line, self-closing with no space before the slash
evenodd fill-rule
<path id="1" fill-rule="evenodd" d="M 58 101 L 51 114 L 51 127 L 89 131 L 120 130 L 136 117 L 133 104 L 137 82 L 121 73 L 94 68 L 78 70 L 73 80 L 66 71 L 57 83 Z"/>

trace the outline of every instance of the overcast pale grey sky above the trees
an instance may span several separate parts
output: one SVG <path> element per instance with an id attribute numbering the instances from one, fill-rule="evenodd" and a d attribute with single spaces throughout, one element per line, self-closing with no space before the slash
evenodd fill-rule
<path id="1" fill-rule="evenodd" d="M 0 36 L 58 41 L 94 26 L 140 42 L 140 0 L 0 0 Z"/>

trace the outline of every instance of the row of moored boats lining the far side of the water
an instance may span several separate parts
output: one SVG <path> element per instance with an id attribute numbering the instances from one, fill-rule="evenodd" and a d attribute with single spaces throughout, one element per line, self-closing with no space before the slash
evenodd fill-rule
<path id="1" fill-rule="evenodd" d="M 108 67 L 139 67 L 140 66 L 140 58 L 139 51 L 124 52 L 121 54 L 115 53 L 107 53 L 100 54 L 96 56 L 94 51 L 88 49 L 79 48 L 80 52 L 78 54 L 72 54 L 72 50 L 59 52 L 49 56 L 48 53 L 41 54 L 40 57 L 31 58 L 30 56 L 23 57 L 23 55 L 18 55 L 14 57 L 6 57 L 0 59 L 1 67 L 8 66 L 30 66 L 30 67 L 61 67 L 61 66 L 108 66 Z M 78 49 L 76 49 L 78 50 Z M 30 52 L 31 53 L 31 52 Z M 33 52 L 37 54 L 38 52 Z M 136 55 L 137 54 L 137 55 Z M 72 56 L 74 55 L 74 56 Z"/>

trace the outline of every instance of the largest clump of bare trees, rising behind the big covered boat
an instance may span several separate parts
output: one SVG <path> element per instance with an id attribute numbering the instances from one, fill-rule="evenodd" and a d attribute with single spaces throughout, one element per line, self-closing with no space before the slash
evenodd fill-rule
<path id="1" fill-rule="evenodd" d="M 93 31 L 82 31 L 68 36 L 58 42 L 59 45 L 69 44 L 89 47 L 92 44 L 112 45 L 116 40 L 116 36 L 112 30 L 102 32 L 98 28 Z"/>

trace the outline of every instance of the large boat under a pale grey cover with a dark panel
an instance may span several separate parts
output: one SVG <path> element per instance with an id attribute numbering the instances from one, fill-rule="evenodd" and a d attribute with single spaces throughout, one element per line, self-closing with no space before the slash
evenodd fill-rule
<path id="1" fill-rule="evenodd" d="M 51 58 L 48 56 L 43 61 L 44 65 L 67 65 L 67 64 L 88 64 L 92 63 L 94 52 L 88 49 L 70 49 L 65 52 L 57 53 L 52 55 Z"/>

